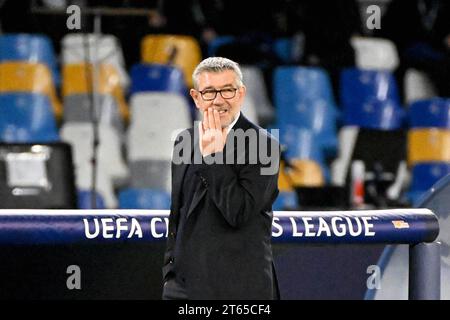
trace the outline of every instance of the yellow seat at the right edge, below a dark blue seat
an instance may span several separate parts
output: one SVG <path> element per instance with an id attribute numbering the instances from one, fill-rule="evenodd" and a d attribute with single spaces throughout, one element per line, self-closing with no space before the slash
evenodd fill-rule
<path id="1" fill-rule="evenodd" d="M 408 163 L 450 161 L 450 130 L 413 129 L 408 132 Z"/>

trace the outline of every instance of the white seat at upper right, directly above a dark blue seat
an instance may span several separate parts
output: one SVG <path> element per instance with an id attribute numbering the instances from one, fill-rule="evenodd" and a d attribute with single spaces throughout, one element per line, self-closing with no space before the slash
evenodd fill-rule
<path id="1" fill-rule="evenodd" d="M 353 37 L 350 43 L 355 50 L 356 66 L 365 70 L 395 71 L 399 57 L 395 44 L 388 39 Z"/>

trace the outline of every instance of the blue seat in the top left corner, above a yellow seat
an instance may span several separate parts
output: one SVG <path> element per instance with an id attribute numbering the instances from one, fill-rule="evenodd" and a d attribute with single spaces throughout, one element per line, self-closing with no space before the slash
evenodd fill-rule
<path id="1" fill-rule="evenodd" d="M 41 34 L 4 34 L 0 36 L 0 62 L 43 63 L 52 73 L 56 86 L 61 83 L 51 40 Z"/>

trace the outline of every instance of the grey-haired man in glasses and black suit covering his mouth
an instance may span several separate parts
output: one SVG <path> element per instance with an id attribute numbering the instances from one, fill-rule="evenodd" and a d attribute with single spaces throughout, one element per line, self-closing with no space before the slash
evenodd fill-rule
<path id="1" fill-rule="evenodd" d="M 279 144 L 241 114 L 237 63 L 205 59 L 193 80 L 203 121 L 175 141 L 163 299 L 277 298 L 270 241 Z"/>

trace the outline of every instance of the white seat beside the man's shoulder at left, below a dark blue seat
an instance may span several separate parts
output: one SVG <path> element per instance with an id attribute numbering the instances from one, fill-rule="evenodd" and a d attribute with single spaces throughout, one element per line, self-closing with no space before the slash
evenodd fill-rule
<path id="1" fill-rule="evenodd" d="M 128 161 L 170 161 L 177 133 L 192 126 L 184 97 L 170 93 L 138 93 L 131 97 L 130 105 Z"/>

